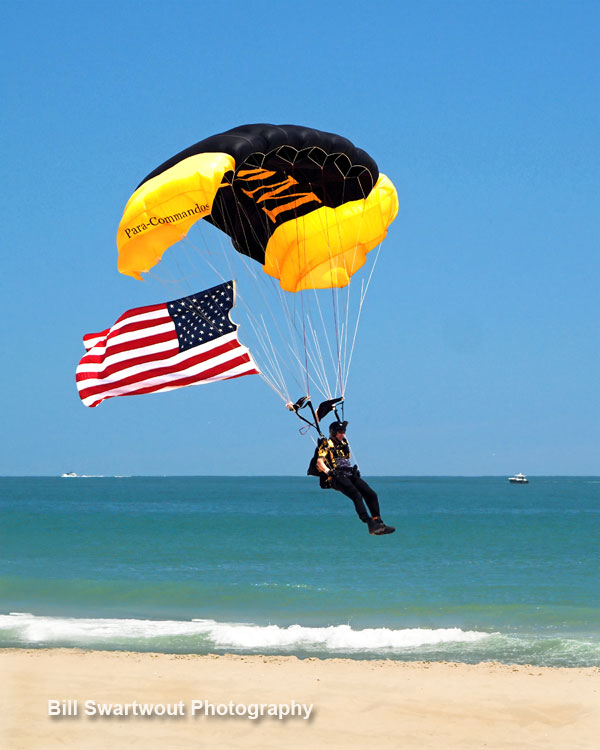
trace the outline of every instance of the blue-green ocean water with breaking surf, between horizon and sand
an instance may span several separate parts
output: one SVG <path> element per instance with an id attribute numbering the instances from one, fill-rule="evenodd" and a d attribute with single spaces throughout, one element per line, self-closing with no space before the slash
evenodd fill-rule
<path id="1" fill-rule="evenodd" d="M 600 665 L 600 478 L 0 478 L 0 647 Z"/>

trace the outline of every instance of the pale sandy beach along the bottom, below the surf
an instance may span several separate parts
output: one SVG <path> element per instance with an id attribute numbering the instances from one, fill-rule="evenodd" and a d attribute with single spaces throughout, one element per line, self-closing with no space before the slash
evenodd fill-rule
<path id="1" fill-rule="evenodd" d="M 7 750 L 571 750 L 600 736 L 595 668 L 67 649 L 0 661 Z"/>

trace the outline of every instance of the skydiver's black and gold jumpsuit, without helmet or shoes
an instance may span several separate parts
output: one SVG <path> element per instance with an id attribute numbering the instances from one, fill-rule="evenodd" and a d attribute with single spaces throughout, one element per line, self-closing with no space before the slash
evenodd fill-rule
<path id="1" fill-rule="evenodd" d="M 319 458 L 325 460 L 328 468 L 335 472 L 335 475 L 328 479 L 329 486 L 352 500 L 360 520 L 363 523 L 368 523 L 371 518 L 379 517 L 377 493 L 369 487 L 364 479 L 360 478 L 358 468 L 351 465 L 350 446 L 346 438 L 343 440 L 323 439 L 319 444 L 317 453 Z M 367 513 L 365 502 L 370 514 Z"/>

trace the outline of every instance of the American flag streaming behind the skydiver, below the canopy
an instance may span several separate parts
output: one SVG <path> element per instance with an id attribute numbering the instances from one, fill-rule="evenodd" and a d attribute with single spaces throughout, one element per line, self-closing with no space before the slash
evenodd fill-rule
<path id="1" fill-rule="evenodd" d="M 86 406 L 259 373 L 229 319 L 233 281 L 160 305 L 136 307 L 100 333 L 83 337 L 76 372 Z"/>

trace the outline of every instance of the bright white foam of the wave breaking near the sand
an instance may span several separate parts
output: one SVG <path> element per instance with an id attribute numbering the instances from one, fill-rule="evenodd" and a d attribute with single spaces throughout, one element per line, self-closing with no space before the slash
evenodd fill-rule
<path id="1" fill-rule="evenodd" d="M 207 646 L 232 649 L 396 651 L 445 643 L 474 643 L 490 634 L 460 628 L 364 628 L 331 625 L 252 625 L 215 620 L 120 620 L 39 617 L 27 613 L 0 615 L 0 631 L 10 631 L 23 644 L 76 645 L 152 641 L 198 636 Z"/>

